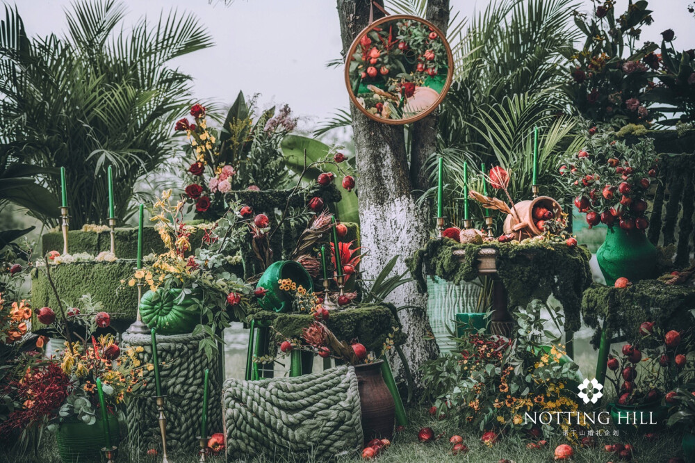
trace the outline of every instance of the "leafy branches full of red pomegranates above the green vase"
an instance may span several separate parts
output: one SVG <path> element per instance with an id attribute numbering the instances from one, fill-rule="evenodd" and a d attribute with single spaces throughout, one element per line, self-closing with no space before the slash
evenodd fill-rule
<path id="1" fill-rule="evenodd" d="M 628 145 L 616 141 L 612 131 L 588 124 L 584 129 L 584 147 L 559 168 L 559 177 L 575 195 L 575 206 L 586 214 L 589 227 L 603 223 L 644 231 L 649 226 L 645 197 L 657 175 L 653 140 Z"/>

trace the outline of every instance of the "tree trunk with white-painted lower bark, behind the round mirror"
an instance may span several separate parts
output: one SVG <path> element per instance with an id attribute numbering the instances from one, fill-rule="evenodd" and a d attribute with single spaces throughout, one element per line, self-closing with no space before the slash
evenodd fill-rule
<path id="1" fill-rule="evenodd" d="M 345 56 L 359 31 L 369 24 L 370 0 L 337 0 L 337 3 Z M 382 4 L 382 0 L 378 3 Z M 373 8 L 373 14 L 374 19 L 384 16 L 378 8 Z M 427 19 L 445 32 L 449 0 L 430 0 Z M 361 245 L 369 250 L 360 264 L 361 271 L 364 277 L 373 279 L 386 262 L 400 255 L 395 271 L 402 273 L 407 270 L 405 258 L 426 243 L 432 228 L 431 205 L 418 207 L 417 200 L 429 187 L 423 166 L 435 150 L 437 112 L 411 124 L 407 141 L 403 126 L 375 122 L 354 105 L 350 111 L 357 151 Z M 415 283 L 404 284 L 391 293 L 388 302 L 416 307 L 401 311 L 400 319 L 408 336 L 405 357 L 419 389 L 420 365 L 439 355 L 434 340 L 425 339 L 432 332 L 425 309 L 427 295 L 418 293 Z M 389 362 L 402 380 L 404 368 L 400 359 L 392 355 Z"/>

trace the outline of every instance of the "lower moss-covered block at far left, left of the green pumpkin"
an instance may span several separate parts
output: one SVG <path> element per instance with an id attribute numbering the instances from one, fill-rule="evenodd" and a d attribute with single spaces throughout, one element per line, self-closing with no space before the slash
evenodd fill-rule
<path id="1" fill-rule="evenodd" d="M 95 302 L 104 304 L 104 310 L 111 314 L 114 327 L 121 331 L 136 318 L 138 290 L 135 286 L 121 284 L 122 279 L 132 277 L 135 266 L 135 259 L 117 259 L 113 262 L 51 264 L 50 271 L 56 290 L 60 294 L 60 301 L 63 302 L 63 309 L 75 306 L 82 295 L 91 294 Z M 32 270 L 31 305 L 58 310 L 58 301 L 46 277 L 45 269 Z M 31 327 L 36 331 L 45 325 L 34 315 Z"/>

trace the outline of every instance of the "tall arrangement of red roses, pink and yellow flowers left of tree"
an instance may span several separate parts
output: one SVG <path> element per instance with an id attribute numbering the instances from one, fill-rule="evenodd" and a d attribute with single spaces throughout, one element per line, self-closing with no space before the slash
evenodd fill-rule
<path id="1" fill-rule="evenodd" d="M 190 108 L 191 123 L 184 117 L 174 129 L 186 132 L 186 151 L 194 162 L 187 170 L 187 202 L 195 206 L 197 216 L 219 218 L 227 209 L 224 195 L 247 187 L 281 188 L 287 183 L 280 151 L 282 139 L 297 127 L 289 106 L 261 113 L 252 120 L 255 98 L 250 104 L 240 95 L 220 129 L 208 127 L 206 108 Z"/>

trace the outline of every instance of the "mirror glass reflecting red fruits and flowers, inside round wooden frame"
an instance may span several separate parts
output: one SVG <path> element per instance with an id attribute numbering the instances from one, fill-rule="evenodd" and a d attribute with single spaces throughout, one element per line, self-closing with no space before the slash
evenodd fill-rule
<path id="1" fill-rule="evenodd" d="M 362 35 L 349 67 L 359 104 L 384 119 L 422 111 L 409 108 L 408 101 L 420 88 L 438 87 L 434 82 L 445 79 L 448 53 L 442 39 L 427 24 L 411 19 L 386 22 Z"/>

